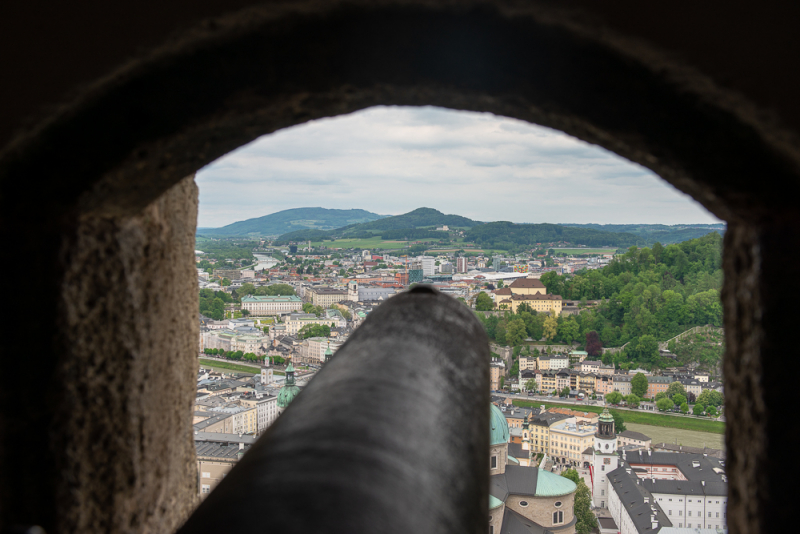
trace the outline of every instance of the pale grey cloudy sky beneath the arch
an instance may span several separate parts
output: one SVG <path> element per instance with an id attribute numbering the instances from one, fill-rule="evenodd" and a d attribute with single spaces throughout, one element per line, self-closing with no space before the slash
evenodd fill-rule
<path id="1" fill-rule="evenodd" d="M 419 207 L 481 221 L 713 223 L 649 170 L 489 113 L 376 107 L 261 137 L 197 173 L 198 226 L 289 208 Z"/>

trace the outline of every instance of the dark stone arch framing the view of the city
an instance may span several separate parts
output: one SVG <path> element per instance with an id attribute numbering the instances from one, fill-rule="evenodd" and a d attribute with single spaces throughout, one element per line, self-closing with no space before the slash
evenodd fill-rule
<path id="1" fill-rule="evenodd" d="M 591 15 L 538 2 L 249 7 L 120 65 L 14 138 L 0 153 L 0 224 L 9 250 L 40 281 L 12 288 L 12 299 L 40 321 L 21 327 L 5 348 L 22 354 L 27 339 L 49 333 L 36 358 L 14 359 L 7 372 L 40 373 L 47 394 L 9 409 L 20 390 L 2 392 L 0 524 L 148 531 L 180 521 L 185 508 L 170 501 L 190 483 L 180 453 L 142 454 L 141 469 L 103 471 L 100 462 L 134 454 L 130 443 L 108 440 L 105 455 L 73 461 L 91 441 L 76 414 L 92 413 L 84 410 L 106 387 L 73 381 L 117 362 L 114 380 L 136 383 L 136 373 L 159 357 L 153 342 L 166 339 L 162 328 L 172 329 L 180 368 L 191 370 L 194 327 L 167 316 L 197 297 L 188 286 L 165 293 L 157 276 L 191 268 L 188 254 L 170 252 L 191 246 L 196 195 L 184 177 L 265 133 L 376 104 L 490 111 L 561 129 L 653 169 L 729 222 L 729 524 L 733 532 L 755 532 L 788 521 L 791 507 L 781 511 L 785 497 L 774 486 L 782 472 L 774 447 L 790 396 L 770 373 L 780 372 L 790 348 L 781 335 L 792 315 L 779 311 L 779 299 L 800 294 L 798 268 L 785 253 L 797 244 L 796 136 L 702 72 L 641 36 L 595 25 Z M 766 181 L 780 184 L 780 193 Z M 162 222 L 153 226 L 153 218 Z M 133 258 L 136 247 L 156 259 Z M 114 262 L 126 266 L 124 276 L 107 270 Z M 95 283 L 98 276 L 103 283 Z M 110 294 L 133 315 L 160 310 L 154 317 L 169 326 L 131 330 L 117 311 L 104 311 Z M 163 306 L 149 307 L 156 301 Z M 94 322 L 73 320 L 81 306 Z M 119 365 L 125 358 L 134 364 Z M 162 375 L 154 385 L 174 379 Z M 175 398 L 185 402 L 186 391 Z M 185 451 L 174 445 L 188 440 L 181 424 L 148 430 L 145 397 L 141 389 L 120 389 L 90 436 L 116 433 L 124 416 L 129 436 L 141 439 L 136 454 L 146 447 Z M 71 407 L 74 428 L 62 419 Z M 5 445 L 20 441 L 30 443 L 23 453 L 30 461 Z M 74 491 L 78 475 L 93 470 L 103 477 Z M 61 498 L 67 494 L 72 498 Z"/>

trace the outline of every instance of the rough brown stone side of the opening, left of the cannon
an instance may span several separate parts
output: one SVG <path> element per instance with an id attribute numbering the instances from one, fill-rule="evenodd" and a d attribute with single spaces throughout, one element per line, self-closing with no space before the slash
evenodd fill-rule
<path id="1" fill-rule="evenodd" d="M 197 494 L 197 187 L 141 214 L 86 217 L 64 247 L 59 532 L 168 532 Z"/>

